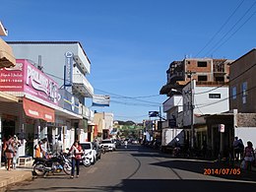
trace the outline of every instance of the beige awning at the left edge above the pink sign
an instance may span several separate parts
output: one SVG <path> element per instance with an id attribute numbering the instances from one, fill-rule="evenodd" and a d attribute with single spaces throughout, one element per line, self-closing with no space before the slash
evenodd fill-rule
<path id="1" fill-rule="evenodd" d="M 0 68 L 16 65 L 12 47 L 0 38 Z"/>

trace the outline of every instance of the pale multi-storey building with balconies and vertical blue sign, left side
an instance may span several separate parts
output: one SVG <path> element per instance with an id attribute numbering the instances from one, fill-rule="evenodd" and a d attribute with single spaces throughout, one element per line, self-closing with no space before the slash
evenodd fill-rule
<path id="1" fill-rule="evenodd" d="M 91 62 L 78 41 L 9 41 L 16 58 L 25 58 L 33 66 L 52 78 L 63 99 L 63 112 L 55 110 L 55 122 L 47 135 L 60 138 L 64 149 L 75 140 L 87 141 L 94 112 L 86 106 L 86 98 L 94 95 L 94 88 L 87 80 Z M 61 91 L 62 90 L 62 91 Z M 69 115 L 72 114 L 72 115 Z"/>

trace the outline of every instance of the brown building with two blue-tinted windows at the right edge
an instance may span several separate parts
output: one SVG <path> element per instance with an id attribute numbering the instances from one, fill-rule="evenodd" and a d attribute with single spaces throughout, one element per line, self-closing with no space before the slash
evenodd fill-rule
<path id="1" fill-rule="evenodd" d="M 256 145 L 256 49 L 230 64 L 229 104 L 236 110 L 234 136 Z"/>

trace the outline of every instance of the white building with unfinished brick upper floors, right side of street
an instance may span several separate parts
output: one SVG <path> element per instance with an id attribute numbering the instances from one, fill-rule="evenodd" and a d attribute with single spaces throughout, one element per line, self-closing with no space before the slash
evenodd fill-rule
<path id="1" fill-rule="evenodd" d="M 205 116 L 228 111 L 229 63 L 227 59 L 185 58 L 170 63 L 167 83 L 160 89 L 169 96 L 163 102 L 166 121 L 164 129 L 171 129 L 174 140 L 181 131 L 182 143 L 200 149 L 208 141 Z M 171 142 L 170 142 L 171 143 Z M 172 142 L 173 143 L 173 142 Z"/>

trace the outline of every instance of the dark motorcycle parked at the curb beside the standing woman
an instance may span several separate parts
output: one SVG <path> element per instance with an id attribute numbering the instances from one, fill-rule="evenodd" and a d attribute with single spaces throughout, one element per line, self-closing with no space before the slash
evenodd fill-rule
<path id="1" fill-rule="evenodd" d="M 49 159 L 35 158 L 33 160 L 33 175 L 45 176 L 46 173 L 59 173 L 62 170 L 70 175 L 72 163 L 63 153 L 59 153 Z"/>

